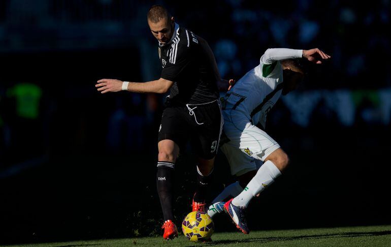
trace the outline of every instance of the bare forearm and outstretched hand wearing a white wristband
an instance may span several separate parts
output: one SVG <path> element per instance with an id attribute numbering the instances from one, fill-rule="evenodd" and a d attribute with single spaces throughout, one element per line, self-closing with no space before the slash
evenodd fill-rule
<path id="1" fill-rule="evenodd" d="M 118 92 L 127 90 L 131 92 L 155 92 L 157 94 L 165 94 L 173 85 L 174 82 L 160 78 L 155 81 L 148 82 L 129 82 L 126 87 L 126 82 L 116 79 L 101 79 L 96 82 L 95 87 L 102 94 L 106 92 Z M 122 86 L 125 86 L 122 88 Z"/>

